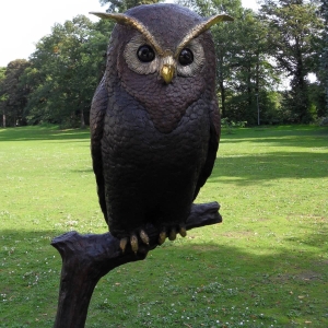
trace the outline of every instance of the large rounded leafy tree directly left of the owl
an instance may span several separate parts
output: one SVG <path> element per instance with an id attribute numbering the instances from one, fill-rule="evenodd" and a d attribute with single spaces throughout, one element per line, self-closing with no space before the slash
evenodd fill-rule
<path id="1" fill-rule="evenodd" d="M 25 108 L 30 124 L 62 127 L 87 124 L 91 101 L 104 66 L 110 22 L 79 15 L 43 37 L 31 56 L 24 81 L 32 93 Z M 107 28 L 107 30 L 106 30 Z"/>

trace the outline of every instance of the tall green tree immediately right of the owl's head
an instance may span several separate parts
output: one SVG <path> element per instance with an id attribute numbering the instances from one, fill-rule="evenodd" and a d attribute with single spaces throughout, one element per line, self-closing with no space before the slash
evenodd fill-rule
<path id="1" fill-rule="evenodd" d="M 256 124 L 258 101 L 261 116 L 272 103 L 277 71 L 267 55 L 267 25 L 249 9 L 243 9 L 239 0 L 181 0 L 202 16 L 224 12 L 234 22 L 216 24 L 211 28 L 216 51 L 218 95 L 223 118 Z M 271 120 L 272 110 L 266 120 Z M 265 118 L 265 117 L 263 117 Z"/>

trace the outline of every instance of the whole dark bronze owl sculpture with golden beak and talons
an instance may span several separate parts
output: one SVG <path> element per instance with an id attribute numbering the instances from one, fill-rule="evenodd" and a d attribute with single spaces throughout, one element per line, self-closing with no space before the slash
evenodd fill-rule
<path id="1" fill-rule="evenodd" d="M 125 250 L 186 235 L 220 139 L 215 55 L 203 19 L 176 4 L 140 5 L 116 21 L 106 71 L 92 102 L 91 151 L 99 204 Z"/>

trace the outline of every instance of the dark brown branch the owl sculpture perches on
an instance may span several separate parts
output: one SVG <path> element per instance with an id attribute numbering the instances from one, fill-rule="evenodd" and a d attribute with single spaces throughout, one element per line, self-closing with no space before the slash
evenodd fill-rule
<path id="1" fill-rule="evenodd" d="M 186 222 L 187 230 L 222 222 L 218 202 L 192 204 Z M 51 245 L 60 253 L 62 268 L 58 309 L 54 328 L 83 328 L 90 300 L 102 277 L 110 270 L 131 261 L 143 260 L 157 244 L 159 231 L 147 227 L 149 246 L 134 254 L 130 247 L 122 253 L 119 239 L 110 233 L 80 235 L 69 232 L 55 237 Z"/>

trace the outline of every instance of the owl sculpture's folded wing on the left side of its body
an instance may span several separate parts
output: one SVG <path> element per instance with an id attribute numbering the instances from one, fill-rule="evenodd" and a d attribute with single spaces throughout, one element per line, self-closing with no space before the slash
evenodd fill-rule
<path id="1" fill-rule="evenodd" d="M 102 138 L 104 130 L 105 113 L 108 105 L 108 93 L 105 85 L 105 79 L 99 83 L 91 104 L 90 112 L 90 129 L 91 129 L 91 155 L 93 171 L 97 183 L 97 192 L 99 204 L 104 213 L 106 222 L 107 209 L 105 199 L 105 181 L 103 175 L 103 157 L 102 157 Z"/>

